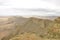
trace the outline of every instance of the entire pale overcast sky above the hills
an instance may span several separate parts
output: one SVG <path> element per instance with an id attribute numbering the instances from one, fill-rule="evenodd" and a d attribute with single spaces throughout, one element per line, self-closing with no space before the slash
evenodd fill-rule
<path id="1" fill-rule="evenodd" d="M 0 16 L 60 16 L 60 0 L 0 0 Z"/>

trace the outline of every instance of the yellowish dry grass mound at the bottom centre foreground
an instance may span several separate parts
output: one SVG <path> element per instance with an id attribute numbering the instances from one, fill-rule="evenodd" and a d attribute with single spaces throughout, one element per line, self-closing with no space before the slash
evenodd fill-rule
<path id="1" fill-rule="evenodd" d="M 13 37 L 10 40 L 41 40 L 39 36 L 32 33 L 24 33 Z"/>

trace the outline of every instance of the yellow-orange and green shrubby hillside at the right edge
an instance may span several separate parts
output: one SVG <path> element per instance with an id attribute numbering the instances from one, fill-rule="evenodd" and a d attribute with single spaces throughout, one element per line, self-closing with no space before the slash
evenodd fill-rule
<path id="1" fill-rule="evenodd" d="M 54 20 L 54 26 L 48 28 L 48 30 L 50 38 L 60 39 L 60 17 Z"/>

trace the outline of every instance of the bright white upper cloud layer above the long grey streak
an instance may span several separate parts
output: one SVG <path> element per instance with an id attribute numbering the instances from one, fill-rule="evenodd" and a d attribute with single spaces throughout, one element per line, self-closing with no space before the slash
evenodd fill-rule
<path id="1" fill-rule="evenodd" d="M 7 6 L 11 8 L 44 8 L 53 10 L 60 9 L 54 2 L 47 2 L 42 0 L 2 0 L 0 4 L 2 4 L 4 7 Z"/>

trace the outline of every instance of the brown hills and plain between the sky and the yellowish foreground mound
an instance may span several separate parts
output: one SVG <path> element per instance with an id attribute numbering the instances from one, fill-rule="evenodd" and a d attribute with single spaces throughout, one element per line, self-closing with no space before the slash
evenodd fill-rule
<path id="1" fill-rule="evenodd" d="M 59 34 L 60 17 L 54 18 L 54 20 L 51 20 L 51 18 L 23 18 L 17 16 L 0 17 L 0 39 L 9 40 L 15 35 L 23 34 L 25 32 L 35 33 L 39 35 L 39 37 L 43 38 L 60 38 L 60 36 L 55 37 L 53 35 L 56 32 L 57 33 L 55 35 Z M 54 37 L 51 37 L 51 35 L 53 35 Z"/>

